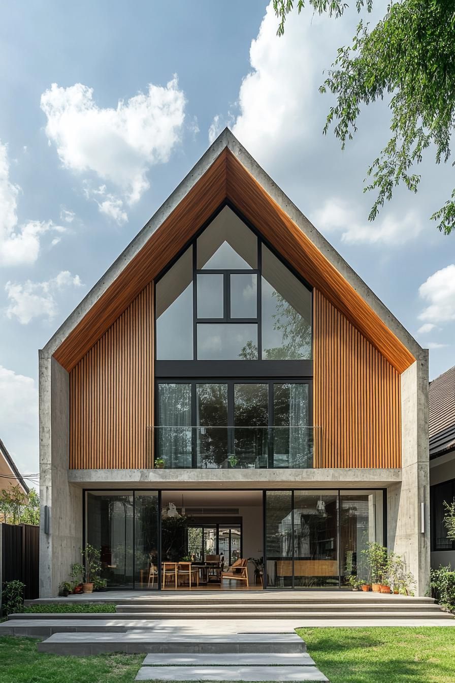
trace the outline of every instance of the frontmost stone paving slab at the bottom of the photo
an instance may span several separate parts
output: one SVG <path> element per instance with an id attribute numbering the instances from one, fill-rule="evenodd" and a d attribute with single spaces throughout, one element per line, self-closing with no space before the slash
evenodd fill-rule
<path id="1" fill-rule="evenodd" d="M 316 667 L 141 667 L 137 681 L 322 681 Z"/>

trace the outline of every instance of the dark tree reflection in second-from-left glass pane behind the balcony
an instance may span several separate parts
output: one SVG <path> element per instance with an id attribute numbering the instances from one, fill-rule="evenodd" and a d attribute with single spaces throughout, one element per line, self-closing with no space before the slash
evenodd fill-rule
<path id="1" fill-rule="evenodd" d="M 203 427 L 197 430 L 198 462 L 219 466 L 228 456 L 227 385 L 197 385 L 197 401 L 198 425 Z"/>

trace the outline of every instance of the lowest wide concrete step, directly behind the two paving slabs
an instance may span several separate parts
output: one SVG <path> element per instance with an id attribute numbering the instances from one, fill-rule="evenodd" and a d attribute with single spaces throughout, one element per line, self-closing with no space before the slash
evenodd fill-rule
<path id="1" fill-rule="evenodd" d="M 38 643 L 38 652 L 76 656 L 89 656 L 102 652 L 277 654 L 282 652 L 303 653 L 306 652 L 306 645 L 296 633 L 261 633 L 258 635 L 240 633 L 207 636 L 168 633 L 157 635 L 153 632 L 76 632 L 55 633 L 42 643 Z"/>

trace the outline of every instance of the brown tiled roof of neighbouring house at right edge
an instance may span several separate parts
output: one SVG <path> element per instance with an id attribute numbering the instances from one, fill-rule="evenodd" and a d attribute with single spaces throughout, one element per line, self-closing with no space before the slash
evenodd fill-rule
<path id="1" fill-rule="evenodd" d="M 455 449 L 455 365 L 430 382 L 430 458 Z"/>

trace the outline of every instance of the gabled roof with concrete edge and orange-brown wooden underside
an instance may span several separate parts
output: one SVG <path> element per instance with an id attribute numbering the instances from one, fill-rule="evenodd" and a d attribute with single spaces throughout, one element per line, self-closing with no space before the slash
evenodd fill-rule
<path id="1" fill-rule="evenodd" d="M 228 128 L 44 347 L 70 371 L 131 301 L 229 203 L 403 372 L 422 349 Z"/>

